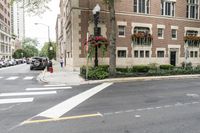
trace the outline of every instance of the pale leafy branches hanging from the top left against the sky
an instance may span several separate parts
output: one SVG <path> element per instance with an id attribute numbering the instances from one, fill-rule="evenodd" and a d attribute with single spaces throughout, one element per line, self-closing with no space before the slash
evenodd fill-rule
<path id="1" fill-rule="evenodd" d="M 50 1 L 51 0 L 11 0 L 11 4 L 13 2 L 22 2 L 26 12 L 34 15 L 40 15 L 46 10 L 49 10 L 47 4 Z"/>

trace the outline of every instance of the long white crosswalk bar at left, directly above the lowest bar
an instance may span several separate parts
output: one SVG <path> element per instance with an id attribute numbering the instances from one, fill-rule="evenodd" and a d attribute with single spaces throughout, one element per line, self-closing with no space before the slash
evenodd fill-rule
<path id="1" fill-rule="evenodd" d="M 49 94 L 56 94 L 56 93 L 57 93 L 56 91 L 0 93 L 0 97 L 8 97 L 8 96 L 31 96 L 31 95 L 49 95 Z"/>

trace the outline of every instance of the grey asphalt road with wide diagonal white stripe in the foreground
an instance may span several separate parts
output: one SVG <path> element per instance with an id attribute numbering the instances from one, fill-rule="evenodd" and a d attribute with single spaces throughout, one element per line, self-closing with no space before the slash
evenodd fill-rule
<path id="1" fill-rule="evenodd" d="M 14 87 L 2 78 L 0 85 L 3 93 L 46 88 L 35 79 Z M 29 103 L 0 104 L 0 132 L 199 133 L 199 87 L 199 79 L 71 86 L 53 95 L 31 96 Z M 0 100 L 9 98 L 1 94 Z"/>

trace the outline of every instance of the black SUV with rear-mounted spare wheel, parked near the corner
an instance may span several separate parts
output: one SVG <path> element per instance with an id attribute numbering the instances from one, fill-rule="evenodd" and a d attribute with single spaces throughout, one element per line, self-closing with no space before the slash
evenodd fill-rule
<path id="1" fill-rule="evenodd" d="M 30 70 L 44 70 L 48 65 L 48 59 L 45 57 L 33 57 Z"/>

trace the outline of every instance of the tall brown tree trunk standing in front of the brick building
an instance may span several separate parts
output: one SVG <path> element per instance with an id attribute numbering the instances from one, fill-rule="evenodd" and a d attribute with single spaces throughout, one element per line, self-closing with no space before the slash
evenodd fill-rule
<path id="1" fill-rule="evenodd" d="M 116 18 L 115 18 L 115 4 L 114 0 L 109 2 L 109 11 L 110 11 L 110 24 L 111 24 L 111 33 L 110 33 L 110 67 L 109 73 L 110 76 L 116 75 Z"/>

